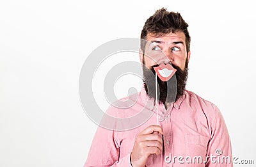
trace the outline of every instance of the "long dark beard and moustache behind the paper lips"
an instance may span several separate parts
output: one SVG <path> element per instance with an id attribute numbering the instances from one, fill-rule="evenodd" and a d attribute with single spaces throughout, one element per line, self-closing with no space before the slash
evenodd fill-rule
<path id="1" fill-rule="evenodd" d="M 177 71 L 168 81 L 162 81 L 157 76 L 158 86 L 156 99 L 156 72 L 153 67 L 158 66 L 159 65 L 154 65 L 147 68 L 143 63 L 143 83 L 145 91 L 147 92 L 148 97 L 159 100 L 159 104 L 173 103 L 184 94 L 188 79 L 188 59 L 186 60 L 184 71 L 179 67 L 172 65 Z"/>

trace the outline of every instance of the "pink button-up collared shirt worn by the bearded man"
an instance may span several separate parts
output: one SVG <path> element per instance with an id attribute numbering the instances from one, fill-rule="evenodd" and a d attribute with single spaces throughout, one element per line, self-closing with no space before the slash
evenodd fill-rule
<path id="1" fill-rule="evenodd" d="M 152 116 L 139 127 L 129 131 L 98 127 L 84 166 L 131 166 L 130 155 L 137 134 L 157 124 L 154 100 L 148 99 L 142 88 L 132 107 L 110 106 L 106 111 L 108 115 L 127 118 L 143 107 L 152 112 Z M 164 131 L 164 150 L 161 155 L 150 155 L 146 166 L 233 166 L 230 138 L 218 107 L 186 90 L 167 111 L 163 104 L 157 108 L 159 113 L 167 114 L 159 122 Z M 117 124 L 118 129 L 122 129 L 122 123 Z"/>

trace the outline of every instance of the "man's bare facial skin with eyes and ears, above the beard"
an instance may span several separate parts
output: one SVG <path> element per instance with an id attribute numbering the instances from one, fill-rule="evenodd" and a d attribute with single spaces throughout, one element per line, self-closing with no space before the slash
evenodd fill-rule
<path id="1" fill-rule="evenodd" d="M 187 58 L 189 60 L 190 52 L 187 54 L 184 33 L 169 33 L 164 36 L 148 34 L 147 41 L 144 56 L 144 65 L 146 67 L 150 68 L 162 62 L 171 62 L 181 70 L 185 69 L 186 60 Z M 140 58 L 142 62 L 143 55 L 140 55 Z"/>

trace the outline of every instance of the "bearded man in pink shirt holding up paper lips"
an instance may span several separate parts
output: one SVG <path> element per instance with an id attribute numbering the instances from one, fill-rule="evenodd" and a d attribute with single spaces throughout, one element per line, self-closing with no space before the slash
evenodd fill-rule
<path id="1" fill-rule="evenodd" d="M 110 106 L 106 113 L 125 118 L 147 109 L 153 114 L 129 131 L 99 127 L 84 166 L 233 166 L 230 138 L 218 107 L 185 90 L 190 58 L 187 28 L 179 13 L 164 8 L 145 22 L 140 50 L 144 86 L 136 104 L 125 109 Z M 161 65 L 175 69 L 175 76 L 161 81 L 156 71 Z M 120 129 L 122 123 L 116 126 Z"/>

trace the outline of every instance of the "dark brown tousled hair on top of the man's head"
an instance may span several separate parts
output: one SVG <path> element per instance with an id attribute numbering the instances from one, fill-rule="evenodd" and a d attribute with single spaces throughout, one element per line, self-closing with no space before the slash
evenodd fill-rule
<path id="1" fill-rule="evenodd" d="M 182 19 L 180 13 L 168 12 L 166 8 L 157 10 L 150 16 L 141 31 L 140 48 L 145 52 L 145 40 L 148 33 L 153 35 L 165 35 L 168 33 L 183 32 L 186 36 L 187 53 L 190 51 L 190 36 L 188 33 L 188 24 Z"/>

